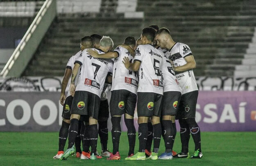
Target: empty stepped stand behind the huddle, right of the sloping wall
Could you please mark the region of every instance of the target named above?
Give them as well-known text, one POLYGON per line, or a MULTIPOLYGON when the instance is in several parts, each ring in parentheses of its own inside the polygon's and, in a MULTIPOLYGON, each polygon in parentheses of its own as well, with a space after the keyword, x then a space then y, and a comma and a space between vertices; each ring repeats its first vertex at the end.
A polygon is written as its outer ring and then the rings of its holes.
POLYGON ((174 41, 190 46, 197 76, 255 76, 248 72, 256 63, 254 1, 58 0, 57 12, 24 76, 63 75, 84 35, 109 35, 117 46, 150 24, 169 28, 174 41))

